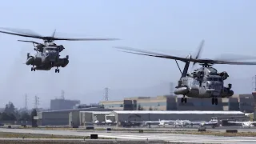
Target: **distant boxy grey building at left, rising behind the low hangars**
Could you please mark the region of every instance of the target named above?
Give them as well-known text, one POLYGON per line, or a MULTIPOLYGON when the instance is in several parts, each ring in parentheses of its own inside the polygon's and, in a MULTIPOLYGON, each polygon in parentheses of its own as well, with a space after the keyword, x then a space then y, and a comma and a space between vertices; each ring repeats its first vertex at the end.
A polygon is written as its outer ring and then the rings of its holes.
POLYGON ((50 110, 68 110, 73 109, 74 106, 80 104, 79 100, 69 99, 51 99, 50 110))

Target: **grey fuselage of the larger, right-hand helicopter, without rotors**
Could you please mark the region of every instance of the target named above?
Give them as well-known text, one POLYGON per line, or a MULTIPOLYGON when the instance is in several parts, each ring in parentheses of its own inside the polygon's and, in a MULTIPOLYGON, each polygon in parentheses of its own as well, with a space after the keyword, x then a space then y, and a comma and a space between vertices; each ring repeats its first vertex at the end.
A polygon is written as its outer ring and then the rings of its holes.
POLYGON ((223 74, 218 74, 212 67, 202 67, 187 74, 178 81, 174 94, 186 95, 190 98, 229 98, 234 92, 231 85, 224 86, 223 74))

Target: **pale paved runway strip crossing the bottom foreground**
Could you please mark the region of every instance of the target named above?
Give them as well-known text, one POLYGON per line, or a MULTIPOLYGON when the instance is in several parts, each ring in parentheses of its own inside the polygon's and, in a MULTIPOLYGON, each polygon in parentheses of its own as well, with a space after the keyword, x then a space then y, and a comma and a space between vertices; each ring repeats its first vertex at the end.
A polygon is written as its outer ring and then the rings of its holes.
POLYGON ((74 136, 90 136, 90 134, 98 134, 101 138, 118 138, 126 140, 164 140, 166 142, 194 142, 194 143, 256 143, 254 137, 219 137, 211 135, 192 135, 192 134, 139 134, 139 133, 122 133, 104 132, 104 131, 75 131, 75 130, 31 130, 31 129, 0 129, 1 132, 12 133, 30 133, 30 134, 55 134, 55 135, 74 135, 74 136))

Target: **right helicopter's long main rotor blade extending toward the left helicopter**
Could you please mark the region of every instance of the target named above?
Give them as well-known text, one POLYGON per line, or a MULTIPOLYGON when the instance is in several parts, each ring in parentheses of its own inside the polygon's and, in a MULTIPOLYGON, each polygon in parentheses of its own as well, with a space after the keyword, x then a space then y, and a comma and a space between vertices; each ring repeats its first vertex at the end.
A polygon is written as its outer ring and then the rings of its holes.
POLYGON ((167 55, 167 54, 159 54, 156 52, 151 52, 148 50, 138 50, 138 49, 134 49, 131 47, 122 47, 122 46, 114 46, 114 48, 120 49, 120 50, 130 50, 130 51, 134 51, 134 52, 138 52, 138 53, 134 53, 134 54, 141 54, 141 55, 147 55, 147 56, 151 56, 151 57, 158 57, 158 58, 167 58, 168 59, 176 59, 182 62, 186 62, 188 59, 187 58, 181 58, 181 57, 177 57, 177 56, 172 56, 172 55, 167 55))

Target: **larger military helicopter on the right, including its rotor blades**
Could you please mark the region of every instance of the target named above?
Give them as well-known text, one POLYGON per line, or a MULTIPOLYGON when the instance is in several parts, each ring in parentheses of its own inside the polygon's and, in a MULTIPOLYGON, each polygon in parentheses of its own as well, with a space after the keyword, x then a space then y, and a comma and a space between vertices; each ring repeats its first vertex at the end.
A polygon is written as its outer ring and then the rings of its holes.
MULTIPOLYGON (((186 58, 172 56, 169 54, 159 54, 156 52, 151 52, 147 50, 138 50, 130 47, 114 47, 120 49, 122 52, 130 54, 140 54, 156 58, 167 58, 174 59, 179 71, 182 74, 182 77, 178 80, 178 86, 175 87, 174 94, 183 95, 181 102, 187 102, 187 97, 190 98, 212 98, 212 105, 218 105, 218 98, 230 98, 234 91, 231 90, 232 84, 228 86, 224 85, 224 80, 229 77, 226 71, 218 72, 213 65, 214 64, 227 64, 227 65, 256 65, 256 62, 234 62, 234 59, 226 60, 214 60, 207 58, 198 58, 204 40, 202 40, 201 45, 198 49, 198 54, 195 58, 192 58, 189 54, 186 58), (183 71, 178 65, 177 61, 185 62, 183 71), (202 67, 199 69, 193 70, 188 73, 190 62, 194 62, 193 66, 196 63, 199 63, 202 67)), ((245 57, 240 59, 254 59, 255 57, 245 57)))

